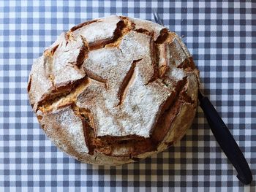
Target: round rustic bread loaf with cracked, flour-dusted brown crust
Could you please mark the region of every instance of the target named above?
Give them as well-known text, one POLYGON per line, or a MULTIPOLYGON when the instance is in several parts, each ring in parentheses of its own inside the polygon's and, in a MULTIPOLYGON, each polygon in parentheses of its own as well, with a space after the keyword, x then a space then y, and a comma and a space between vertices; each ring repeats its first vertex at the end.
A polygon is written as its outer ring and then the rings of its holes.
POLYGON ((34 61, 29 100, 64 152, 89 164, 126 164, 184 136, 198 74, 174 32, 110 16, 72 27, 34 61))

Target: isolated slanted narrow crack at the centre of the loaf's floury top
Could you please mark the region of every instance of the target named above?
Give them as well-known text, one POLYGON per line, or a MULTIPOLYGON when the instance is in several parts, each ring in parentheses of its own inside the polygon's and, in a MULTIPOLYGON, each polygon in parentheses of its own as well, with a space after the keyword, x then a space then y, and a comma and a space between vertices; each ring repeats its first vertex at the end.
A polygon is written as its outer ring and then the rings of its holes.
POLYGON ((140 58, 138 60, 132 61, 131 68, 127 72, 126 76, 124 77, 123 82, 121 82, 121 87, 118 91, 118 98, 119 98, 119 103, 117 104, 116 107, 119 105, 123 104, 125 96, 127 94, 128 88, 130 85, 132 85, 132 82, 135 78, 135 66, 138 64, 139 61, 141 61, 143 58, 140 58))

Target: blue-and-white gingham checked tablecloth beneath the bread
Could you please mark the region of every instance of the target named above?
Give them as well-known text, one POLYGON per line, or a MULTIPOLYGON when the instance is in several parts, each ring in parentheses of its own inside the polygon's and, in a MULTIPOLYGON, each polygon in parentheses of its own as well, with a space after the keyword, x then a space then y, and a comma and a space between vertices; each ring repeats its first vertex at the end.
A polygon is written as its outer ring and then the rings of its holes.
POLYGON ((244 187, 203 112, 170 150, 124 166, 80 164, 45 137, 26 93, 34 58, 84 20, 128 15, 164 23, 184 39, 201 88, 256 175, 256 3, 0 1, 0 191, 255 191, 244 187))

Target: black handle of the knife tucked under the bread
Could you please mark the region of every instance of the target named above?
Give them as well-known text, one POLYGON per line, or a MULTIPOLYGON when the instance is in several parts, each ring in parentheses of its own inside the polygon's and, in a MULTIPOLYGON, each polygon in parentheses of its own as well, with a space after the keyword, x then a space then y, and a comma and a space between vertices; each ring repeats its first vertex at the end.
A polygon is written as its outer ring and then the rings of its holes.
POLYGON ((244 183, 244 185, 252 183, 252 172, 249 169, 249 165, 235 139, 230 134, 227 126, 223 122, 222 118, 219 117, 217 110, 215 110, 211 101, 209 101, 206 96, 199 93, 198 98, 200 101, 200 107, 206 115, 206 119, 214 137, 238 172, 236 177, 238 177, 238 180, 240 180, 241 183, 244 183))

